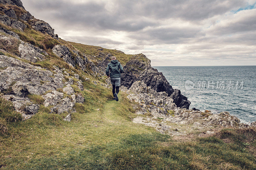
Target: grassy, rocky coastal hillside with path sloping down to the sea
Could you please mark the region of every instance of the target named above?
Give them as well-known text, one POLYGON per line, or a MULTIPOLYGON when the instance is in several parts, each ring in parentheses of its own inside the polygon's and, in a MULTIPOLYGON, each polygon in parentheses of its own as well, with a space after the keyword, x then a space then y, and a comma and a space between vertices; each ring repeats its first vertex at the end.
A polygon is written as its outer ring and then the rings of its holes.
POLYGON ((145 55, 65 41, 0 3, 0 169, 256 169, 256 122, 189 109, 145 55))

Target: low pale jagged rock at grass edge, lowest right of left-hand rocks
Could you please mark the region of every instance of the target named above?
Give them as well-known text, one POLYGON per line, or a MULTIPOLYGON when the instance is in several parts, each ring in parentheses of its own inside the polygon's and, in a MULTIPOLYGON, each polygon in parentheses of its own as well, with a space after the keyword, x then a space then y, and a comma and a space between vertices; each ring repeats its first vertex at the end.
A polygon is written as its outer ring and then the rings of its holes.
POLYGON ((63 112, 74 111, 74 106, 75 102, 71 101, 69 98, 64 98, 60 101, 60 104, 54 105, 50 110, 52 113, 61 114, 63 112))

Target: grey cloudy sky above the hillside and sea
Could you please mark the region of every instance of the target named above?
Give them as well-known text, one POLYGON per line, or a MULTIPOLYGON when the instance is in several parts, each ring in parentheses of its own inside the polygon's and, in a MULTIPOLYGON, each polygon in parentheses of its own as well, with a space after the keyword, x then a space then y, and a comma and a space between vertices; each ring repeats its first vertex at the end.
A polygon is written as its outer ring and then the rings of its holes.
POLYGON ((152 66, 256 65, 256 0, 21 0, 62 39, 152 66))

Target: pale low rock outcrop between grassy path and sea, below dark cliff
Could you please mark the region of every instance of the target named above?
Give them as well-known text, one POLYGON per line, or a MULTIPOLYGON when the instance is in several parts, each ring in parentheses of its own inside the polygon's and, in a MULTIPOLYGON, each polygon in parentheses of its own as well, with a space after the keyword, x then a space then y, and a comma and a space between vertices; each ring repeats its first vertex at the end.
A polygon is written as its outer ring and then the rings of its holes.
POLYGON ((139 103, 135 106, 137 117, 135 123, 142 123, 155 127, 161 133, 170 135, 184 135, 192 130, 214 133, 214 126, 248 127, 240 120, 229 115, 228 112, 212 114, 212 112, 180 109, 166 92, 156 92, 141 81, 132 84, 128 91, 128 98, 139 103), (183 129, 182 126, 186 128, 183 129))

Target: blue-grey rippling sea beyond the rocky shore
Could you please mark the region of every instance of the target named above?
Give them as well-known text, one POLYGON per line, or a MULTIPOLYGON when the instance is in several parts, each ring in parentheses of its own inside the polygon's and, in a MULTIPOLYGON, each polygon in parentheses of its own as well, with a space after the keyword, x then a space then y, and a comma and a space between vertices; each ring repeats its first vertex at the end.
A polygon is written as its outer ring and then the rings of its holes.
POLYGON ((256 121, 256 66, 158 66, 189 108, 227 111, 243 123, 256 121))

